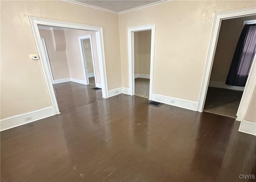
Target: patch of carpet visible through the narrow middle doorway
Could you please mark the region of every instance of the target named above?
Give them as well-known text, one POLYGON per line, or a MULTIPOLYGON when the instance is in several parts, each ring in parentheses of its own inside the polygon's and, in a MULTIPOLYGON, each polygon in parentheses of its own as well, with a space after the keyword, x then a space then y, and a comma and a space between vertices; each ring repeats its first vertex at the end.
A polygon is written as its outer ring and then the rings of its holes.
POLYGON ((149 79, 135 78, 135 95, 149 98, 149 79))

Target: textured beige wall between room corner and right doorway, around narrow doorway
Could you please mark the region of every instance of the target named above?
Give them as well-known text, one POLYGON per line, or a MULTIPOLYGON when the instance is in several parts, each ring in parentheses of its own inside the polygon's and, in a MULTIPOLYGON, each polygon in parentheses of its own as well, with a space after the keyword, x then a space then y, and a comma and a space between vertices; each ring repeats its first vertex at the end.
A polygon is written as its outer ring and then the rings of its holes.
POLYGON ((255 1, 170 1, 120 14, 122 86, 129 87, 128 27, 156 23, 153 94, 198 102, 214 13, 255 5, 255 1))

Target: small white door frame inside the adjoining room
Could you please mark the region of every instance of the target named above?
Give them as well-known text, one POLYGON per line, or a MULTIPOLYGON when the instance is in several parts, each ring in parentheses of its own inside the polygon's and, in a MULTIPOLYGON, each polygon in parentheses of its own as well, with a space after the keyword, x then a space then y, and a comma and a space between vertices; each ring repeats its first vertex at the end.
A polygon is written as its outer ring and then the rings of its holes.
POLYGON ((81 59, 82 59, 82 65, 83 65, 83 70, 84 70, 84 81, 86 83, 86 85, 88 85, 89 82, 89 77, 88 77, 88 71, 87 71, 87 65, 86 65, 86 57, 84 54, 84 45, 82 43, 82 41, 84 39, 90 39, 90 46, 91 46, 91 54, 92 54, 92 67, 93 67, 93 72, 94 72, 94 80, 95 80, 95 85, 97 85, 96 83, 96 72, 95 72, 95 64, 94 64, 94 55, 93 55, 93 50, 92 50, 92 35, 82 35, 78 37, 78 41, 79 41, 79 47, 80 47, 80 53, 81 53, 81 59))

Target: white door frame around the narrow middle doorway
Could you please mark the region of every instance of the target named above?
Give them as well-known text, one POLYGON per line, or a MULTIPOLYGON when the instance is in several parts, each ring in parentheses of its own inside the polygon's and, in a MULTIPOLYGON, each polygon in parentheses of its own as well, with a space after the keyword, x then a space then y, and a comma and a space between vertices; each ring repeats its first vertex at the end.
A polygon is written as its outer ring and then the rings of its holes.
POLYGON ((129 95, 134 95, 134 32, 151 30, 151 50, 150 50, 150 80, 149 80, 149 100, 152 100, 153 94, 153 73, 154 73, 154 50, 155 50, 155 32, 156 23, 128 27, 128 63, 129 63, 129 95))

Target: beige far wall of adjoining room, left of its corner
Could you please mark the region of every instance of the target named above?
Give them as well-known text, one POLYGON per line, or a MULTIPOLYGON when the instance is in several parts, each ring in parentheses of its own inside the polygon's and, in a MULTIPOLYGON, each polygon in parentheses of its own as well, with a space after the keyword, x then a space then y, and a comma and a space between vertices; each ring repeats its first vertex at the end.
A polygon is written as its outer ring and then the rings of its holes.
POLYGON ((66 51, 63 47, 66 47, 66 41, 63 30, 54 30, 55 39, 52 36, 52 30, 39 29, 40 36, 44 38, 46 49, 49 57, 49 62, 52 69, 52 76, 54 80, 70 78, 68 61, 66 57, 66 51), (56 39, 58 37, 58 39, 56 39), (64 41, 63 41, 64 40, 64 41), (60 43, 59 43, 60 41, 60 43), (59 45, 59 51, 55 51, 54 42, 59 45), (60 45, 62 49, 60 49, 60 45))

